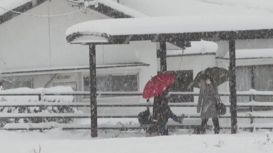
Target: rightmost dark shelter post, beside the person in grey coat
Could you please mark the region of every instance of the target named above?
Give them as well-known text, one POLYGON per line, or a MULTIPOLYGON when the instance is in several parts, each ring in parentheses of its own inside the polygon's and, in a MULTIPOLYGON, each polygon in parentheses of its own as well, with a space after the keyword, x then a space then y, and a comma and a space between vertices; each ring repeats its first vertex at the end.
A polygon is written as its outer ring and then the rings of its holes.
POLYGON ((231 134, 237 132, 237 99, 236 99, 236 58, 235 39, 229 40, 229 89, 230 89, 230 109, 231 109, 231 134))

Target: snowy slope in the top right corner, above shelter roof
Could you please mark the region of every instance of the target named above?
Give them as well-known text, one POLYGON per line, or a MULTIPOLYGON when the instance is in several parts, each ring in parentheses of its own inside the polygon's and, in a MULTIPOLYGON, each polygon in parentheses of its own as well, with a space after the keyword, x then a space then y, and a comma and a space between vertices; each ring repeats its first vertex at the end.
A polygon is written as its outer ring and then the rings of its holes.
POLYGON ((227 6, 243 6, 245 8, 253 8, 259 10, 267 10, 273 13, 273 1, 272 0, 199 0, 207 3, 214 3, 218 5, 227 6))

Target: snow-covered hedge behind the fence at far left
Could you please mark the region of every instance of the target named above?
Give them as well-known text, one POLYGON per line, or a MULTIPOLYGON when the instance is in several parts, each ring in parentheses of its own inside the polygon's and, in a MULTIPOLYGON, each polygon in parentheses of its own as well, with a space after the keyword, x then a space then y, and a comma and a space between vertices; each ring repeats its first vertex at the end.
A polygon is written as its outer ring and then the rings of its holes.
MULTIPOLYGON (((44 93, 56 93, 56 92, 72 92, 71 87, 51 87, 51 88, 17 88, 0 91, 1 94, 39 94, 42 93, 41 101, 48 102, 73 102, 74 96, 44 96, 44 93)), ((5 102, 38 102, 38 96, 0 96, 0 103, 5 102)), ((48 113, 74 113, 77 110, 73 107, 61 106, 61 107, 42 107, 42 112, 48 113)), ((37 113, 40 112, 39 107, 0 107, 1 113, 37 113)), ((0 127, 3 127, 6 123, 40 123, 40 122, 58 122, 69 123, 73 118, 48 118, 41 120, 40 118, 32 119, 0 119, 0 127)))

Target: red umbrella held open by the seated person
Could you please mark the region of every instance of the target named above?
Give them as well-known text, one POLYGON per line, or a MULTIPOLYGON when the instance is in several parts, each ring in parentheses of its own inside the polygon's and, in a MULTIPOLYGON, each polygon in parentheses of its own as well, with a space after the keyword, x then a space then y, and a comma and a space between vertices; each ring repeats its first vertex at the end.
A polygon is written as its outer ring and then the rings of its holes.
POLYGON ((175 74, 160 73, 151 78, 145 85, 142 97, 145 99, 152 98, 161 94, 167 87, 174 82, 175 74))

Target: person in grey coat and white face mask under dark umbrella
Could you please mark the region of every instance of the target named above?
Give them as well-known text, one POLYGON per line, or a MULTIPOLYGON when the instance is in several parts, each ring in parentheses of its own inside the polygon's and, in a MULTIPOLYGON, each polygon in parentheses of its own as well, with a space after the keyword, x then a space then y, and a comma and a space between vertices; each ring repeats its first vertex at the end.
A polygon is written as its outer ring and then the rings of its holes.
POLYGON ((200 92, 197 104, 197 113, 201 111, 201 133, 205 133, 208 119, 212 118, 215 134, 219 134, 219 112, 216 110, 216 100, 220 99, 217 86, 214 85, 212 77, 206 75, 205 80, 200 82, 200 92), (201 109, 202 108, 202 109, 201 109))

